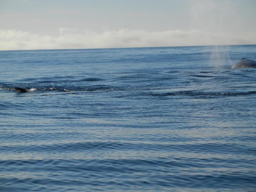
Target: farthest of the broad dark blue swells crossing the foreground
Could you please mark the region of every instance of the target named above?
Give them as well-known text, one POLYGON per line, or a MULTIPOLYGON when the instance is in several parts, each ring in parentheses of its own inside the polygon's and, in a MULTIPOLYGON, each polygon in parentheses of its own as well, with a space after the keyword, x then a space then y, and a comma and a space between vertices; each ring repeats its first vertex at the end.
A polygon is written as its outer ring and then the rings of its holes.
POLYGON ((199 144, 149 144, 130 142, 76 142, 60 143, 52 145, 5 145, 0 147, 1 152, 58 152, 65 153, 71 151, 92 151, 92 150, 153 150, 153 151, 183 151, 192 153, 207 154, 240 154, 252 155, 256 149, 235 143, 199 143, 199 144))

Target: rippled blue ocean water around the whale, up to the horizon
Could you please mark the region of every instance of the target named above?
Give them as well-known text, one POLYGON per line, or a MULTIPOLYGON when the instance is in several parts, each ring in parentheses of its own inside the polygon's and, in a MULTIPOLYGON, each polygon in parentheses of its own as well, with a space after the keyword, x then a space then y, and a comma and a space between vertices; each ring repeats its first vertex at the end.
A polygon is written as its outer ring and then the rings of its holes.
POLYGON ((256 45, 0 51, 0 191, 255 191, 241 58, 256 45))

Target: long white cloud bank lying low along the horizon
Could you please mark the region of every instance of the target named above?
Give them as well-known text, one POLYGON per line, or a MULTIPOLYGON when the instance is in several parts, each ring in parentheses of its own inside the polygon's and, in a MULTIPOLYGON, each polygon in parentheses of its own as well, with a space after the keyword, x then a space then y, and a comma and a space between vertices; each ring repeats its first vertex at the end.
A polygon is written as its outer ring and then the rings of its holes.
POLYGON ((136 29, 94 32, 60 28, 58 36, 39 35, 20 30, 0 29, 0 50, 80 49, 112 47, 155 47, 190 45, 256 44, 254 33, 243 36, 202 30, 147 32, 136 29))

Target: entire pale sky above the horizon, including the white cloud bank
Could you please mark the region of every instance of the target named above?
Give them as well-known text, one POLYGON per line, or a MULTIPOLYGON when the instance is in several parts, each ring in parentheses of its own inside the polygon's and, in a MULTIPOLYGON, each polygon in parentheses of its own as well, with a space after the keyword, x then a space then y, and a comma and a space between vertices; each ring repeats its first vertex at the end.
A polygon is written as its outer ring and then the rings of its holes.
POLYGON ((0 0, 0 50, 256 44, 256 0, 0 0))

